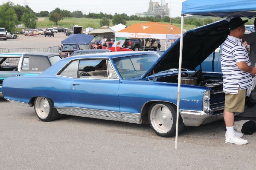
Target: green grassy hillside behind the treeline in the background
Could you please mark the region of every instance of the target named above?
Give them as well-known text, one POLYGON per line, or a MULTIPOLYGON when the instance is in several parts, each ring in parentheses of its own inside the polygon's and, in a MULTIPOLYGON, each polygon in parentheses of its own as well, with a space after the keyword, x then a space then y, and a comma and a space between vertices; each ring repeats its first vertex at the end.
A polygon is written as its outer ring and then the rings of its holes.
MULTIPOLYGON (((70 26, 73 25, 79 25, 83 26, 83 28, 91 27, 94 29, 98 29, 100 27, 99 25, 100 19, 92 19, 92 18, 64 18, 63 20, 58 22, 58 26, 65 27, 65 28, 70 28, 70 26)), ((112 22, 110 21, 110 26, 113 26, 112 22)), ((148 23, 147 21, 137 21, 137 20, 131 20, 131 21, 126 21, 127 26, 131 26, 134 23, 148 23)), ((169 23, 167 23, 169 24, 169 23)), ((177 27, 180 28, 180 24, 173 24, 177 27)), ((48 17, 45 18, 38 18, 37 21, 37 27, 38 28, 49 28, 55 26, 54 23, 49 21, 48 17)), ((184 25, 183 29, 189 30, 196 28, 194 25, 184 25)))

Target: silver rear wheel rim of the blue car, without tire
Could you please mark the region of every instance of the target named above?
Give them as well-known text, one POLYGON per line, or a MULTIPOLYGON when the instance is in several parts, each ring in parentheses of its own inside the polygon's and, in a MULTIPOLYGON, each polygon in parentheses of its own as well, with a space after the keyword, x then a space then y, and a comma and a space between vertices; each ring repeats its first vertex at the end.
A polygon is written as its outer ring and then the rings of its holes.
POLYGON ((35 112, 39 118, 45 119, 48 117, 50 112, 50 105, 47 98, 38 97, 35 100, 35 112))

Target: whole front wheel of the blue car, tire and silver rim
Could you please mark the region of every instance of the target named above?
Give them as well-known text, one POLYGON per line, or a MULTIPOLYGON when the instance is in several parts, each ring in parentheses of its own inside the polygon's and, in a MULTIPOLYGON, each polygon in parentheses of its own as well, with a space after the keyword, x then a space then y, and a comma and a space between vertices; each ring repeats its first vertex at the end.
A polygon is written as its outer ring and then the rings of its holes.
MULTIPOLYGON (((148 122, 154 132, 162 137, 175 135, 176 109, 169 103, 157 102, 151 105, 148 111, 148 122)), ((179 117, 179 132, 184 128, 181 116, 179 117)))

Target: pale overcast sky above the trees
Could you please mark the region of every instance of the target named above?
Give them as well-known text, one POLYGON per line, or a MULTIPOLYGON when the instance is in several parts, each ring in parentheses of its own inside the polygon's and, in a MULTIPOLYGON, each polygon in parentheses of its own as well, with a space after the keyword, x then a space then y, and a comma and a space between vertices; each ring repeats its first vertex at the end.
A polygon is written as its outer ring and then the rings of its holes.
MULTIPOLYGON (((68 10, 70 12, 79 10, 83 14, 99 13, 104 14, 122 14, 128 16, 135 13, 143 13, 148 11, 149 0, 0 0, 1 4, 7 1, 13 2, 15 5, 24 6, 26 3, 34 12, 48 11, 51 12, 55 8, 61 10, 68 10)), ((153 2, 160 2, 161 0, 152 0, 153 2)), ((172 17, 180 17, 181 2, 184 0, 165 0, 170 8, 172 2, 172 17)))

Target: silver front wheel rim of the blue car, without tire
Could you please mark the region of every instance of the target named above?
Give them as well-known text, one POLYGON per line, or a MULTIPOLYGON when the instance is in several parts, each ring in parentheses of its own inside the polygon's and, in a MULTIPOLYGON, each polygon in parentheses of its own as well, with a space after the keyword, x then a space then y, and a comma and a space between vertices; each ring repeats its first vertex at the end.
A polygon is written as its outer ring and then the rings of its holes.
POLYGON ((168 133, 173 127, 173 113, 164 104, 155 104, 150 111, 150 123, 158 133, 168 133))

